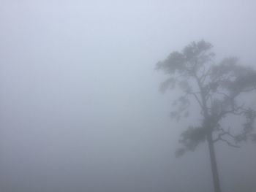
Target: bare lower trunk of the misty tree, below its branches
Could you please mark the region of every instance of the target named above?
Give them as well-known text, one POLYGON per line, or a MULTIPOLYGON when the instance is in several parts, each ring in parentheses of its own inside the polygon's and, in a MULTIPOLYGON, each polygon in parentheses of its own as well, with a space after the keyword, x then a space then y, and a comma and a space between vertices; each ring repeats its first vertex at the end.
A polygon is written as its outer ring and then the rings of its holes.
POLYGON ((210 160, 211 160, 211 173, 214 180, 214 192, 221 192, 220 184, 219 184, 219 173, 217 167, 217 160, 214 151, 214 142, 212 139, 212 133, 207 134, 207 142, 208 142, 208 149, 210 153, 210 160))

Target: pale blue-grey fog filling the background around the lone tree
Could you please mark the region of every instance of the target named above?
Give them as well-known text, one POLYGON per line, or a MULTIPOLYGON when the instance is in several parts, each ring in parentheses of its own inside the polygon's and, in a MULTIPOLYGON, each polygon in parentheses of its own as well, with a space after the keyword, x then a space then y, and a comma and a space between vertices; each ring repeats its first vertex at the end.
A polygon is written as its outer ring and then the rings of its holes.
MULTIPOLYGON (((0 0, 0 191, 213 191, 206 144, 174 155, 187 122, 154 67, 200 39, 256 67, 255 8, 0 0)), ((255 145, 216 151, 222 191, 255 190, 255 145)))

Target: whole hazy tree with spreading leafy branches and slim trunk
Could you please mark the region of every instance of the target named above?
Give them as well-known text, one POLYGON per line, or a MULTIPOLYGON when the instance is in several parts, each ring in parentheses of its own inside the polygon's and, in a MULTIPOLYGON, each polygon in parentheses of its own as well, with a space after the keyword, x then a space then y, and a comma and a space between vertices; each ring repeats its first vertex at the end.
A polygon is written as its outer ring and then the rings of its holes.
POLYGON ((256 112, 246 106, 242 98, 244 94, 256 91, 256 71, 238 64, 238 59, 234 57, 216 62, 212 47, 211 43, 204 40, 192 42, 181 52, 174 51, 165 60, 159 61, 156 69, 168 75, 167 80, 160 85, 161 91, 178 87, 178 93, 181 93, 173 101, 171 118, 187 118, 194 104, 202 119, 197 126, 189 126, 181 134, 179 142, 183 147, 176 150, 176 155, 195 150, 200 142, 206 141, 214 191, 220 192, 214 144, 225 142, 230 147, 239 147, 243 141, 255 140, 253 126, 256 112), (242 119, 239 129, 230 128, 225 122, 233 115, 242 119))

